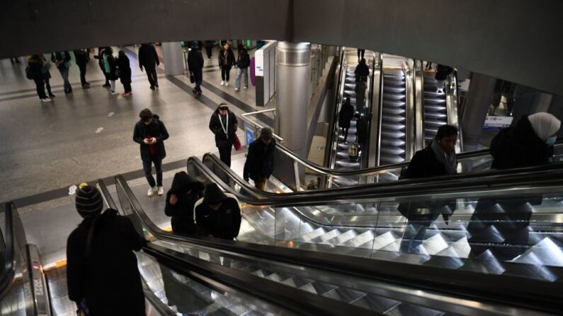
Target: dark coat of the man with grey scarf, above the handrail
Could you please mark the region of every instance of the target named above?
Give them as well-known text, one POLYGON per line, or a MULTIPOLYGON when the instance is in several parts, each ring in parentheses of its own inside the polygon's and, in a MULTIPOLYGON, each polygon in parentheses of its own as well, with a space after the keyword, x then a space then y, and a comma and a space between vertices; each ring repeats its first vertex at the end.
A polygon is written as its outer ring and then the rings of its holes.
POLYGON ((448 175, 443 163, 440 163, 430 146, 414 153, 409 167, 401 179, 416 179, 420 177, 439 177, 448 175))

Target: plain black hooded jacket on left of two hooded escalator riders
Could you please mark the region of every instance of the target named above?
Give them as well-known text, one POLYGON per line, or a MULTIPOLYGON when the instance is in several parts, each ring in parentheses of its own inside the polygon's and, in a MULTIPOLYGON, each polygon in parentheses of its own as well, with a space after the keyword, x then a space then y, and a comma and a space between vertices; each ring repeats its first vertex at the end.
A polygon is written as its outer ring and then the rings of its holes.
POLYGON ((174 175, 172 187, 166 194, 166 216, 172 216, 172 231, 182 235, 197 235, 193 208, 195 202, 202 197, 203 183, 193 180, 186 172, 181 171, 174 175), (189 193, 188 193, 189 192, 189 193), (170 197, 175 194, 178 198, 176 204, 170 204, 170 197))

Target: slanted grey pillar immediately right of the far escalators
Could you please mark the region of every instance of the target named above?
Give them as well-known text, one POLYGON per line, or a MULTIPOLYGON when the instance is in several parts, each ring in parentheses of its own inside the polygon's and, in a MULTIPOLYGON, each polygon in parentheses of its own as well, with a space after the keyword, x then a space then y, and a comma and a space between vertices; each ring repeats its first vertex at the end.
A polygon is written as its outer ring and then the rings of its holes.
POLYGON ((473 73, 462 119, 463 150, 474 151, 479 145, 496 78, 473 73))

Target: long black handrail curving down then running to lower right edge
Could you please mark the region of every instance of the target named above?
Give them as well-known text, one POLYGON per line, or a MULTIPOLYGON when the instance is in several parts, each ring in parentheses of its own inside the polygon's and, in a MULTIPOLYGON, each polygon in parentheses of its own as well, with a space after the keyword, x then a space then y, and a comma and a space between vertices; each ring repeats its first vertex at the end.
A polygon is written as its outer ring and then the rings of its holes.
POLYGON ((423 288, 442 293, 454 293, 471 299, 493 301, 506 305, 518 305, 523 308, 561 310, 563 292, 559 291, 559 282, 546 282, 520 276, 482 274, 475 271, 460 271, 441 267, 421 266, 404 262, 390 264, 385 260, 353 257, 344 254, 330 254, 310 250, 259 245, 250 242, 234 242, 215 238, 190 238, 174 235, 158 228, 144 213, 135 195, 123 176, 116 176, 116 185, 121 184, 135 214, 145 223, 147 230, 157 239, 171 242, 187 242, 200 247, 237 252, 251 257, 271 259, 288 264, 313 267, 351 274, 367 279, 377 279, 399 283, 414 288, 423 288), (515 286, 518 284, 519 286, 515 286), (538 295, 538 293, 549 293, 538 295))

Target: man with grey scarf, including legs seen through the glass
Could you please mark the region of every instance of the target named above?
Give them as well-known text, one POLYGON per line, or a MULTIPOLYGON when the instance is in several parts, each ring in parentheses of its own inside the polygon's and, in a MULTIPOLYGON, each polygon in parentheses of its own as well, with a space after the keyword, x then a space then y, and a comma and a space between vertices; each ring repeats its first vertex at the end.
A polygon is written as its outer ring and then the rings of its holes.
MULTIPOLYGON (((456 143, 457 129, 451 125, 442 125, 431 144, 414 154, 401 180, 455 175, 456 143)), ((455 210, 455 201, 409 201, 399 204, 397 210, 408 220, 400 251, 418 254, 421 253, 420 247, 426 230, 440 214, 448 223, 448 218, 455 210)))

